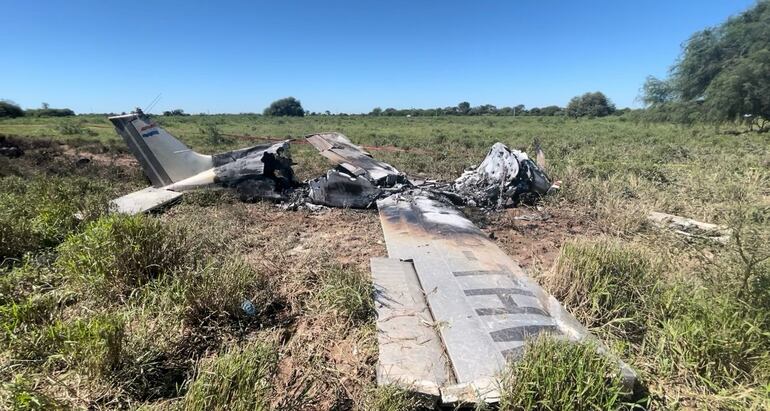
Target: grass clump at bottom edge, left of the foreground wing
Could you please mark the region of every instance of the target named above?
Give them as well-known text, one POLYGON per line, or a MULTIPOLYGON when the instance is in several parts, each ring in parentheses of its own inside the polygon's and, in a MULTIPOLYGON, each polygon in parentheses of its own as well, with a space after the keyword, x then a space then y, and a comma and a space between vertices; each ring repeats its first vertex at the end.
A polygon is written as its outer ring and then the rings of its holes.
POLYGON ((274 344, 251 341, 203 360, 184 398, 185 410, 267 410, 276 371, 274 344))

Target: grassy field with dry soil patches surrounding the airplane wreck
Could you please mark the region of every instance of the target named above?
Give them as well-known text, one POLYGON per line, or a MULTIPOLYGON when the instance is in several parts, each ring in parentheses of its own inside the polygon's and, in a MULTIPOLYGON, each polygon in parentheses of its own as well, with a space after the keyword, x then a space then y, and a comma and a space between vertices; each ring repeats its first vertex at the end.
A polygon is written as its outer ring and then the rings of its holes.
MULTIPOLYGON (((770 134, 624 117, 157 120, 202 152, 339 131, 444 180, 496 141, 531 150, 537 138, 563 182, 540 204, 549 218, 469 214, 642 386, 621 392, 591 347, 538 340, 501 376, 500 407, 770 407, 770 134), (652 227, 653 210, 734 235, 686 239, 652 227)), ((0 134, 26 151, 0 157, 0 408, 430 409, 375 384, 375 211, 292 212, 219 191, 108 216, 106 200, 147 183, 105 118, 3 120, 0 134)), ((330 166, 300 141, 292 154, 303 179, 330 166)))

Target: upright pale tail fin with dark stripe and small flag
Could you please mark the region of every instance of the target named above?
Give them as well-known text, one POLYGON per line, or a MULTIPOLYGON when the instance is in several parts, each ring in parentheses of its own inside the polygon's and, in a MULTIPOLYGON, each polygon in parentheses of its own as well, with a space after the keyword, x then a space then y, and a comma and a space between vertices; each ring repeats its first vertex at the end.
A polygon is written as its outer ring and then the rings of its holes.
POLYGON ((139 109, 109 120, 154 187, 168 186, 214 166, 211 156, 192 151, 139 109))

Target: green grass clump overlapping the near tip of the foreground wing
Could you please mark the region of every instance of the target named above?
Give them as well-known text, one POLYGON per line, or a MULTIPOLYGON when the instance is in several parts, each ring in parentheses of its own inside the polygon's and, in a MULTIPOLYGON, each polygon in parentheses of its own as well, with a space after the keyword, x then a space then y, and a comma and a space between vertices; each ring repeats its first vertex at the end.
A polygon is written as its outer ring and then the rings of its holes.
POLYGON ((623 406, 618 365, 591 344, 539 337, 501 384, 501 410, 612 410, 623 406))

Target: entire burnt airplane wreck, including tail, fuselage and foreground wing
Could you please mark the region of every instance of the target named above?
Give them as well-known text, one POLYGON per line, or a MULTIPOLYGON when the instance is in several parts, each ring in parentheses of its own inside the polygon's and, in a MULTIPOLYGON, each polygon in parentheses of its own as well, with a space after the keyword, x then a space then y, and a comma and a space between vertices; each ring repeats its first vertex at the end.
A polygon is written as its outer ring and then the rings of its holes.
MULTIPOLYGON (((397 384, 445 404, 496 402, 500 373, 540 333, 592 340, 564 307, 457 208, 500 208, 544 195, 551 182, 526 153, 496 143, 484 161, 453 183, 414 181, 339 133, 307 141, 336 164, 300 184, 289 142, 207 156, 185 146, 141 111, 110 117, 152 187, 113 201, 140 213, 184 191, 235 188, 246 200, 267 198, 379 210, 388 257, 371 259, 377 309, 380 384, 397 384)), ((627 389, 635 373, 622 361, 627 389)))

